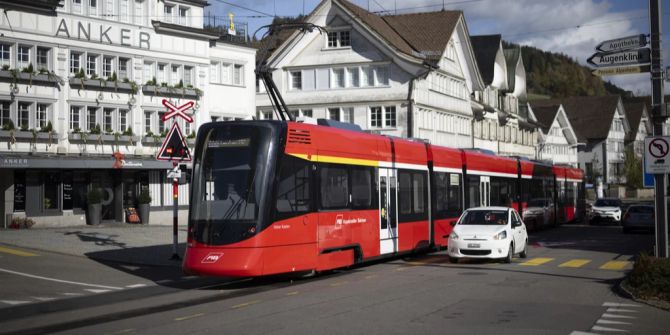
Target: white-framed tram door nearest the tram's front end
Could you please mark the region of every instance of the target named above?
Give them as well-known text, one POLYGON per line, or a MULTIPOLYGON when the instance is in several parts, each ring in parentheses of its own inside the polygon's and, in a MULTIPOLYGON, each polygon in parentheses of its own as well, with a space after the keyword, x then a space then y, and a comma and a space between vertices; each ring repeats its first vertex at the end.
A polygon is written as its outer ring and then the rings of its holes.
POLYGON ((379 169, 379 246, 380 254, 398 251, 398 192, 396 170, 379 169))

